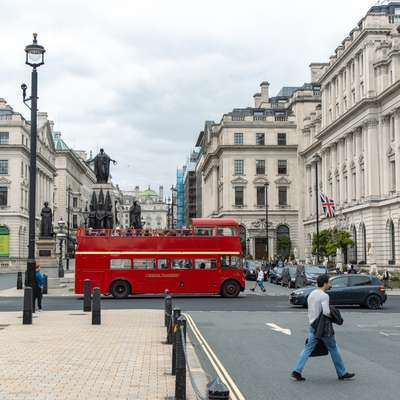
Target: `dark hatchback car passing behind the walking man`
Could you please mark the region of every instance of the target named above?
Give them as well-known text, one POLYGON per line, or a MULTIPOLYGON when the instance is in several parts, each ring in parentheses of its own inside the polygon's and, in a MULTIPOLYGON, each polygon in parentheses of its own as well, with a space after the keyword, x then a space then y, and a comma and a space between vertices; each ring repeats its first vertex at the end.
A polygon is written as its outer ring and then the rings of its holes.
MULTIPOLYGON (((360 305, 371 309, 380 308, 387 299, 382 282, 372 275, 340 275, 329 280, 332 287, 327 291, 331 305, 360 305)), ((307 299, 314 287, 295 290, 289 296, 291 304, 307 307, 307 299)))

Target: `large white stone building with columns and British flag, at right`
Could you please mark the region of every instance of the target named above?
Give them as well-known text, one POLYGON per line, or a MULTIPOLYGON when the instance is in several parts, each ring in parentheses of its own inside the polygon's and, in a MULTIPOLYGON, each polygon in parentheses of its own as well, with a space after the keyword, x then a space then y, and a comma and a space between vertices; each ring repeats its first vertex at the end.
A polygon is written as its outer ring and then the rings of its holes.
MULTIPOLYGON (((348 261, 400 265, 400 3, 372 7, 326 64, 319 64, 321 105, 299 130, 305 253, 315 232, 315 163, 319 189, 337 218, 321 228, 349 230, 348 261)), ((319 76, 318 76, 319 75, 319 76)))

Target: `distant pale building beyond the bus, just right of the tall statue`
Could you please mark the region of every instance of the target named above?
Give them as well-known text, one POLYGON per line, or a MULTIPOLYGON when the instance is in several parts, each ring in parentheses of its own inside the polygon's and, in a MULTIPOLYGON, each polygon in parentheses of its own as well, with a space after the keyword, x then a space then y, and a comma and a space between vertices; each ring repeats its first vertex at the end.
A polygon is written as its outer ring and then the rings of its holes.
POLYGON ((129 221, 129 209, 133 205, 135 200, 139 201, 142 210, 142 221, 144 222, 144 228, 151 229, 165 229, 167 228, 167 213, 168 206, 164 199, 164 188, 159 187, 158 193, 150 188, 150 186, 140 191, 139 186, 135 186, 133 191, 122 191, 123 193, 123 205, 121 208, 122 217, 121 225, 128 227, 129 221))

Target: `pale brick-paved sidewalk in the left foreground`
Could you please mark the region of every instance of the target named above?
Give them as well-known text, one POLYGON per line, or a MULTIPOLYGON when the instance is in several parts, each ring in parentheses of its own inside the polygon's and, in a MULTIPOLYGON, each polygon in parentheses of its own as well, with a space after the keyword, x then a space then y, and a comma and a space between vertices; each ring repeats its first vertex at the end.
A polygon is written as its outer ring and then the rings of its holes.
MULTIPOLYGON (((173 398, 162 311, 103 310, 102 325, 77 311, 21 317, 0 314, 1 400, 173 398)), ((187 394, 195 399, 189 379, 187 394)))

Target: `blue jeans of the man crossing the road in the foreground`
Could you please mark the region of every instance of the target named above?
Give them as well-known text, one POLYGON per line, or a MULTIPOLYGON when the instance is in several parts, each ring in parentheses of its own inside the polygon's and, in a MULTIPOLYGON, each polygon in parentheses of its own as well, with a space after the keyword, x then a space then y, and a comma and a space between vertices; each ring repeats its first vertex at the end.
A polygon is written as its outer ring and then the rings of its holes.
MULTIPOLYGON (((342 356, 340 355, 339 348, 337 347, 335 336, 324 336, 321 338, 324 342, 326 348, 331 355, 333 364, 335 365, 336 373, 338 376, 343 376, 346 373, 346 367, 344 366, 342 356)), ((318 343, 318 339, 314 335, 314 329, 310 327, 310 333, 308 335, 308 342, 304 345, 304 349, 301 352, 296 366, 294 367, 294 371, 301 372, 303 371, 304 365, 306 364, 308 357, 313 352, 315 346, 318 343)))

